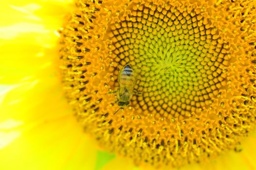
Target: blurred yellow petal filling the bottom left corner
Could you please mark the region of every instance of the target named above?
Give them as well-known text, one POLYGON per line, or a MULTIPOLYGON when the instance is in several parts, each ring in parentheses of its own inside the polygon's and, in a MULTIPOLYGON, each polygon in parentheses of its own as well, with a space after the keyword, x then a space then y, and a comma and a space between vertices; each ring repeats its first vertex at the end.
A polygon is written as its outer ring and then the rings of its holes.
POLYGON ((96 149, 72 118, 44 121, 21 131, 19 138, 0 150, 0 169, 93 169, 96 149))

